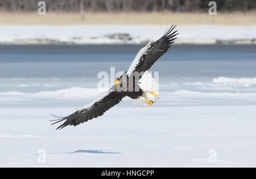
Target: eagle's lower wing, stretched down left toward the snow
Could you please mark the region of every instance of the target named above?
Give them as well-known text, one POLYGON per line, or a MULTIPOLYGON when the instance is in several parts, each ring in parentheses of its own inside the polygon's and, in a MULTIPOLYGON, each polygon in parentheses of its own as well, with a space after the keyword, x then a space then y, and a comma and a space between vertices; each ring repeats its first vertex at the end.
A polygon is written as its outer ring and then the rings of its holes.
POLYGON ((97 118, 98 116, 103 115, 107 110, 109 110, 114 105, 117 105, 124 96, 122 93, 117 91, 109 90, 105 93, 102 93, 98 98, 88 105, 82 107, 82 109, 77 110, 75 113, 66 116, 65 118, 51 120, 55 121, 56 124, 65 120, 56 130, 61 129, 66 126, 77 126, 80 123, 87 122, 90 119, 97 118))

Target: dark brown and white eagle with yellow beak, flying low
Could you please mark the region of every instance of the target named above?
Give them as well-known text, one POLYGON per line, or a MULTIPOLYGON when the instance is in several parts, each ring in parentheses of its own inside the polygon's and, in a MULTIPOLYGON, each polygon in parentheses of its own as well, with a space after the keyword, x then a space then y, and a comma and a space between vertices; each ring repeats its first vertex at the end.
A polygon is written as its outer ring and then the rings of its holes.
POLYGON ((117 105, 124 97, 132 99, 141 99, 148 105, 156 102, 158 94, 155 91, 150 91, 145 88, 141 82, 148 69, 159 59, 164 53, 168 51, 178 35, 174 31, 176 26, 172 25, 168 31, 164 33, 162 38, 148 43, 143 47, 135 56, 127 72, 122 76, 115 78, 114 85, 106 92, 102 93, 94 101, 88 105, 76 110, 75 113, 68 115, 64 118, 51 120, 54 123, 63 122, 59 127, 62 129, 67 126, 77 126, 81 123, 87 122, 93 118, 103 115, 111 107, 117 105))

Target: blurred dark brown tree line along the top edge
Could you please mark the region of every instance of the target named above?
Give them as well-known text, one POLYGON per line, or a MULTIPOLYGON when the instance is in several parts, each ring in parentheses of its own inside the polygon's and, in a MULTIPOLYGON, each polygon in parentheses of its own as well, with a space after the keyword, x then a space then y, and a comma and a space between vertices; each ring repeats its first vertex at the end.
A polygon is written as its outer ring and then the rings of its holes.
MULTIPOLYGON (((0 10, 35 11, 39 0, 0 0, 0 10)), ((44 0, 47 11, 205 11, 210 0, 44 0)), ((218 11, 256 9, 256 0, 217 0, 218 11)))

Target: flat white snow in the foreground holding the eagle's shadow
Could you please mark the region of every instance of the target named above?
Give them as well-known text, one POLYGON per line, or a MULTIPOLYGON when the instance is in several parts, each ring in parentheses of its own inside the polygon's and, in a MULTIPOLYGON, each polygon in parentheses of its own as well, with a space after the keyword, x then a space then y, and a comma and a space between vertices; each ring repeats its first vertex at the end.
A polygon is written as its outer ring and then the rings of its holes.
POLYGON ((49 113, 73 109, 2 108, 0 166, 256 166, 255 107, 115 107, 61 131, 49 113))

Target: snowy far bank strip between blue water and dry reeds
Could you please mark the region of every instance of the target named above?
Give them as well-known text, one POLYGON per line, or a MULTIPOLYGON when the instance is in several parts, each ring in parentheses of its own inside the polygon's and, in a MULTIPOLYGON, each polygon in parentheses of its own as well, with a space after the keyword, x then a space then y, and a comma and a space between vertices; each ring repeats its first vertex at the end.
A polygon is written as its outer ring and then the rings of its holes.
MULTIPOLYGON (((170 27, 170 26, 169 26, 170 27)), ((167 26, 0 26, 2 44, 144 44, 167 26)), ((177 44, 256 44, 256 26, 179 25, 177 44)))

